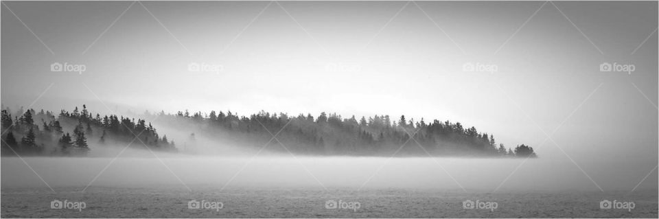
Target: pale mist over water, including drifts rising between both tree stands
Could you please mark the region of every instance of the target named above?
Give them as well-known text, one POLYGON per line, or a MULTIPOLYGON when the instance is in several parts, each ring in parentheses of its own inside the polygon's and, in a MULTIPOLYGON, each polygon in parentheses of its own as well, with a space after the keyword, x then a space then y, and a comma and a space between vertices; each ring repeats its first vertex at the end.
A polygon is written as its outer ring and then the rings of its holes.
MULTIPOLYGON (((82 191, 88 185, 90 188, 165 185, 185 190, 210 187, 217 191, 246 187, 312 187, 356 192, 360 189, 630 192, 636 185, 636 191, 656 190, 658 184, 657 172, 651 171, 658 162, 657 149, 651 147, 656 145, 654 140, 627 146, 643 150, 627 150, 621 154, 605 150, 623 145, 617 141, 604 146, 601 139, 557 138, 566 148, 566 154, 555 146, 538 145, 538 159, 310 157, 287 153, 275 139, 267 145, 257 142, 246 147, 213 135, 218 132, 204 132, 195 126, 176 127, 163 122, 154 122, 154 126, 176 141, 178 153, 150 151, 141 147, 139 141, 130 146, 128 143, 102 145, 89 141, 91 150, 87 157, 23 159, 56 191, 61 187, 78 187, 74 190, 82 191), (196 133, 194 143, 189 142, 191 133, 196 133), (570 147, 573 145, 591 149, 574 150, 570 147), (638 159, 614 159, 621 155, 638 159)), ((418 146, 410 141, 404 147, 418 146)), ((3 157, 0 162, 3 189, 47 188, 20 158, 3 157)))

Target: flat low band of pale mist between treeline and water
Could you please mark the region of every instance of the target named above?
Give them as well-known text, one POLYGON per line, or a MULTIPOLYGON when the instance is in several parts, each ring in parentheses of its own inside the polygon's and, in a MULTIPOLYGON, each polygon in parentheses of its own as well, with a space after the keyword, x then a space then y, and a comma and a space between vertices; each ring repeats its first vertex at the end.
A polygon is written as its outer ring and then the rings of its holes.
MULTIPOLYGON (((112 157, 24 157, 51 187, 80 187, 102 172, 91 187, 157 187, 180 185, 226 189, 243 187, 342 187, 348 189, 445 189, 467 192, 599 191, 570 161, 477 158, 292 157, 290 155, 189 156, 132 152, 104 170, 112 157), (149 157, 150 155, 150 157, 149 157), (166 165, 166 166, 165 166, 166 165), (517 169, 517 170, 516 170, 517 169), (446 170, 446 172, 444 171, 446 170), (512 174, 507 181, 506 178, 512 174), (178 181, 178 178, 181 181, 178 181), (235 176, 235 177, 234 177, 235 176), (231 181, 227 185, 227 182, 231 181), (505 183, 502 183, 505 181, 505 183), (500 186, 500 187, 499 187, 500 186)), ((604 191, 631 191, 650 169, 639 163, 580 163, 604 191)), ((645 166, 651 166, 646 163, 645 166)), ((46 187, 17 157, 1 159, 3 189, 46 187)), ((656 189, 650 174, 637 189, 656 189)))

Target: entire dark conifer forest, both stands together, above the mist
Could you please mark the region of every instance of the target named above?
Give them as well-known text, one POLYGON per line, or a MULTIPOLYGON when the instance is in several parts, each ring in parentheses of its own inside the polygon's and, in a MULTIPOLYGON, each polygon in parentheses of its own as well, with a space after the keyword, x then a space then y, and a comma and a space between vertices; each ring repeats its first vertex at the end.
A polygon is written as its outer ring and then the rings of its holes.
POLYGON ((466 128, 460 122, 415 121, 404 115, 343 118, 336 113, 291 117, 286 113, 259 113, 239 116, 227 111, 210 113, 159 113, 163 124, 189 130, 181 139, 183 150, 165 135, 160 137, 145 119, 89 113, 82 110, 36 112, 21 108, 12 114, 3 108, 3 156, 84 156, 94 146, 123 143, 132 148, 163 152, 194 152, 199 144, 195 135, 231 142, 235 146, 259 148, 263 143, 279 145, 268 150, 308 155, 342 156, 469 156, 469 157, 537 157, 524 144, 506 148, 496 143, 494 135, 466 128), (195 133, 196 132, 196 133, 195 133), (273 137, 275 136, 275 137, 273 137), (132 143, 132 141, 137 141, 132 143))

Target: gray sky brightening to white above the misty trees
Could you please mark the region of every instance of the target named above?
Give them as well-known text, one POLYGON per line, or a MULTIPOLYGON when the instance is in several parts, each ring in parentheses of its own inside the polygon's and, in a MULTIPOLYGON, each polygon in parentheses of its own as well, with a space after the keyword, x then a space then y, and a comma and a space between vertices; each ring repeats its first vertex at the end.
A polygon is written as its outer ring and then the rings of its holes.
POLYGON ((45 91, 33 108, 405 114, 566 162, 657 163, 656 1, 131 4, 3 1, 3 104, 45 91))

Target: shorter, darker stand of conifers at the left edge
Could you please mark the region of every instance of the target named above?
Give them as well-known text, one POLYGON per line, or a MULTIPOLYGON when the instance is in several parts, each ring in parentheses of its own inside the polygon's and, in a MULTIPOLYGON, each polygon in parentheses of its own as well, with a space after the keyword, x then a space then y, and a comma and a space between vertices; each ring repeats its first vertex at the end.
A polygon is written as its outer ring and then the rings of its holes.
MULTIPOLYGON (((174 141, 159 137, 151 124, 145 120, 117 117, 117 115, 89 113, 85 105, 82 111, 76 107, 72 112, 62 110, 58 115, 51 111, 30 108, 19 109, 12 117, 10 108, 3 108, 0 115, 3 156, 48 155, 84 156, 89 153, 89 141, 104 146, 109 143, 126 145, 139 136, 139 140, 153 150, 176 151, 174 141), (23 113, 24 112, 24 113, 23 113), (20 116, 18 116, 20 115, 20 116)), ((134 148, 145 147, 131 143, 134 148)))

